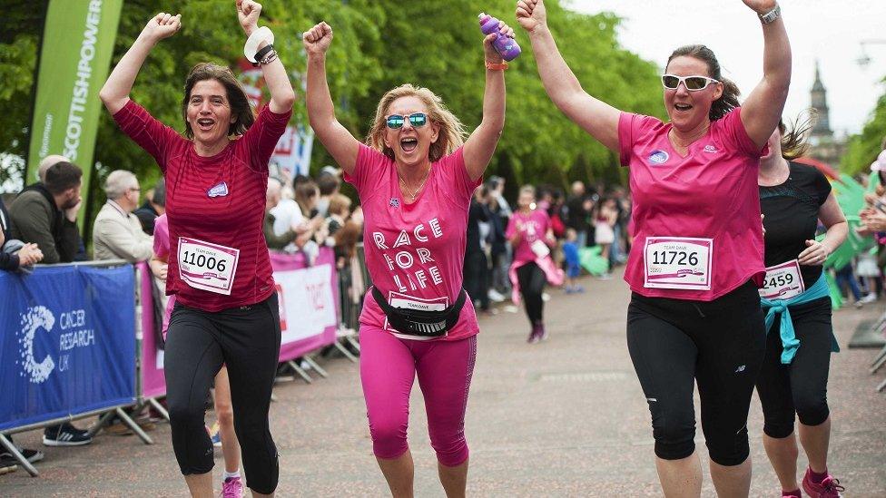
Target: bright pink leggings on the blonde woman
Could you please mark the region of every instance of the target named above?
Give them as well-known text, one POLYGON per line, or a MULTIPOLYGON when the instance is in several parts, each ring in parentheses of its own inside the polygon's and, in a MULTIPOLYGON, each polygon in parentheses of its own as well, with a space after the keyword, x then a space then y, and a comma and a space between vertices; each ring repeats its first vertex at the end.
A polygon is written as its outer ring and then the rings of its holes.
POLYGON ((397 458, 409 450, 409 393, 418 374, 428 412, 430 443, 439 463, 454 467, 468 460, 465 409, 477 357, 477 336, 456 341, 416 341, 364 325, 359 338, 360 382, 375 455, 397 458))

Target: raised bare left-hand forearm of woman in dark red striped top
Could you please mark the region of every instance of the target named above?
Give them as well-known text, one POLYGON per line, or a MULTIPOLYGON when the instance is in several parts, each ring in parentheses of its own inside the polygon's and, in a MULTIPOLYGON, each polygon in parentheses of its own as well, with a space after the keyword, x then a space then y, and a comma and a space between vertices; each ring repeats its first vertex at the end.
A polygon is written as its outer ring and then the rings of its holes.
POLYGON ((162 12, 145 24, 142 34, 135 39, 133 46, 129 47, 123 58, 113 68, 108 81, 104 82, 102 90, 98 93, 100 99, 112 114, 116 114, 129 102, 129 93, 133 91, 133 83, 138 75, 144 60, 151 53, 153 45, 175 34, 182 27, 182 15, 172 15, 162 12))

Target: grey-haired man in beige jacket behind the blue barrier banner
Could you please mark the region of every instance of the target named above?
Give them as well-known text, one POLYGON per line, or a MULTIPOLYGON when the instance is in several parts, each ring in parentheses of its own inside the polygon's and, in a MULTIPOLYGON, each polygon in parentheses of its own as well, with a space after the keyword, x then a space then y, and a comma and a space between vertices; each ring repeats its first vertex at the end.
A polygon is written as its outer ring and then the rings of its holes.
MULTIPOLYGON (((130 263, 151 259, 153 237, 143 232, 142 223, 133 214, 140 191, 132 171, 112 171, 104 181, 108 200, 93 226, 95 259, 125 259, 130 263)), ((151 223, 153 229, 153 220, 151 223)))

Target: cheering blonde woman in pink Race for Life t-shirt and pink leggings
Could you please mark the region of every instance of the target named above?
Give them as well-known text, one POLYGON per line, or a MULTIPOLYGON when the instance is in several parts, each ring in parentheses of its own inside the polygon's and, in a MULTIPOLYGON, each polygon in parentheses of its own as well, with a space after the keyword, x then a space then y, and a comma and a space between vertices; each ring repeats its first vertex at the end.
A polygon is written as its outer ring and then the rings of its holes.
MULTIPOLYGON (((513 35, 505 24, 503 34, 513 35)), ((477 317, 463 286, 468 207, 505 124, 507 64, 485 38, 483 120, 464 127, 440 98, 404 84, 379 103, 367 144, 335 117, 326 81, 332 29, 304 34, 310 126, 359 193, 373 288, 360 314, 360 380, 369 432, 394 496, 411 496, 409 393, 418 375, 428 432, 448 496, 468 480, 465 410, 477 353, 477 317)))

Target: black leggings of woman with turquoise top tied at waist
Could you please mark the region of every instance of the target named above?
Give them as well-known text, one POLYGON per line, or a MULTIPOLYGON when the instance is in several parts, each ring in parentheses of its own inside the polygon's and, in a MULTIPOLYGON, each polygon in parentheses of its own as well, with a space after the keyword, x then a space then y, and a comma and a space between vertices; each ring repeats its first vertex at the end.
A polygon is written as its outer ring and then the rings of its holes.
POLYGON ((763 432, 775 438, 793 433, 793 415, 802 425, 821 425, 828 409, 828 368, 831 363, 831 298, 792 306, 793 330, 800 348, 790 365, 782 364, 781 316, 769 329, 757 395, 763 405, 763 432))

